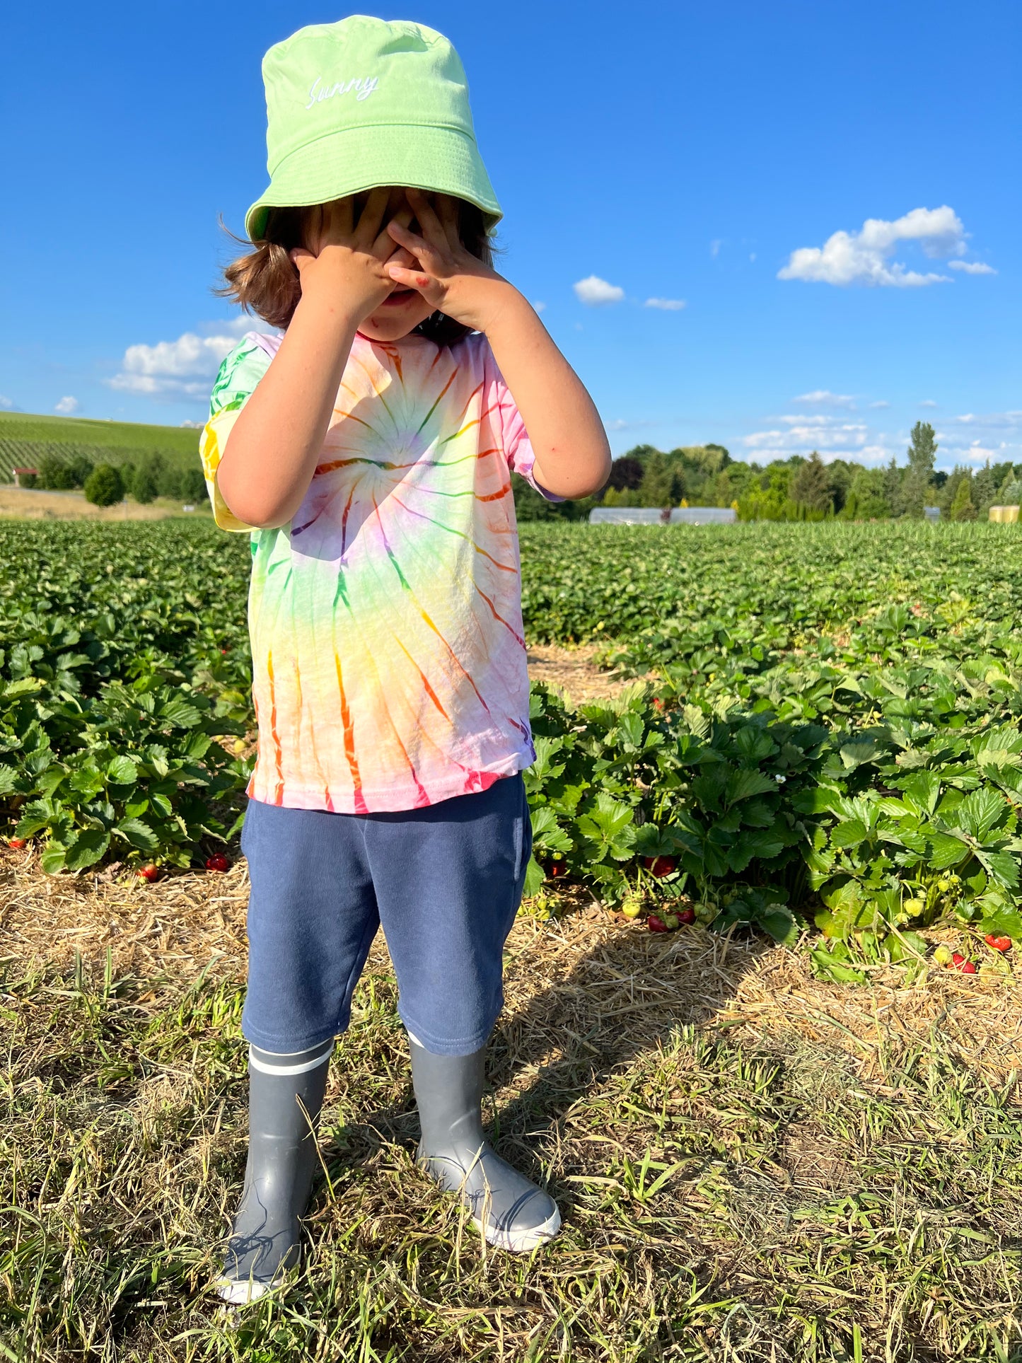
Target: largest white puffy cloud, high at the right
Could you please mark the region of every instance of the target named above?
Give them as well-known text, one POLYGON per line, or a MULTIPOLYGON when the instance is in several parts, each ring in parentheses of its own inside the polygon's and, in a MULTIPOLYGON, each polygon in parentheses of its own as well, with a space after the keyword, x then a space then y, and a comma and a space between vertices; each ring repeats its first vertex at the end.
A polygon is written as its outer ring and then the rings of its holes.
POLYGON ((788 264, 778 270, 778 279, 804 279, 818 284, 864 284, 878 288, 917 288, 950 284, 950 275, 920 274, 909 270, 893 255, 901 241, 916 241, 933 259, 959 256, 965 251, 965 228, 958 214, 940 209, 913 209, 901 218, 867 218, 858 232, 835 232, 822 247, 800 247, 788 264))

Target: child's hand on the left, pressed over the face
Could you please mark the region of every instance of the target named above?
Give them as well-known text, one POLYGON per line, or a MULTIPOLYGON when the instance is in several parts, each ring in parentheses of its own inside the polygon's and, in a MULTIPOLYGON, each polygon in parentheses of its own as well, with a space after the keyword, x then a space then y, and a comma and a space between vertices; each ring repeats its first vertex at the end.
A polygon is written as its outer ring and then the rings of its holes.
POLYGON ((402 189, 372 189, 356 222, 356 203, 349 195, 323 207, 320 229, 312 249, 296 247, 289 252, 301 279, 301 294, 319 296, 343 307, 356 322, 364 322, 394 290, 388 264, 414 264, 414 258, 394 247, 383 226, 391 209, 391 224, 405 226, 412 210, 403 204, 402 189))

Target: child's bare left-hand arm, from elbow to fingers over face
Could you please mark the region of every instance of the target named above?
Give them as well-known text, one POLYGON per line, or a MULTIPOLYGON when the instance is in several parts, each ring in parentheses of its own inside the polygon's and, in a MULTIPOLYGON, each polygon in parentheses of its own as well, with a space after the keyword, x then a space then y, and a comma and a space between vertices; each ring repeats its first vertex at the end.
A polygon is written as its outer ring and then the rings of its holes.
MULTIPOLYGON (((324 210, 318 251, 292 251, 301 300, 273 364, 241 409, 217 470, 223 500, 248 525, 286 525, 301 506, 358 323, 394 288, 395 255, 383 226, 388 191, 373 189, 353 222, 353 202, 324 210)), ((395 219, 410 221, 410 213, 395 219)))

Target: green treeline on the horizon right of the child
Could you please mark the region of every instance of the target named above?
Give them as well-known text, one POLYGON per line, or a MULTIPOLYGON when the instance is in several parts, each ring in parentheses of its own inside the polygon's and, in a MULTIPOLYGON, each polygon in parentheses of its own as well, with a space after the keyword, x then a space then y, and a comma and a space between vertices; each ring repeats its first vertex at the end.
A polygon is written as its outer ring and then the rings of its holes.
POLYGON ((585 519, 595 506, 734 507, 740 521, 923 519, 938 507, 943 519, 987 519, 992 506, 1022 504, 1022 465, 989 463, 936 472, 933 427, 917 421, 908 462, 883 468, 853 459, 823 462, 815 451, 767 465, 732 459, 721 444, 662 451, 636 446, 615 459, 606 487, 579 502, 545 502, 516 480, 522 521, 585 519))

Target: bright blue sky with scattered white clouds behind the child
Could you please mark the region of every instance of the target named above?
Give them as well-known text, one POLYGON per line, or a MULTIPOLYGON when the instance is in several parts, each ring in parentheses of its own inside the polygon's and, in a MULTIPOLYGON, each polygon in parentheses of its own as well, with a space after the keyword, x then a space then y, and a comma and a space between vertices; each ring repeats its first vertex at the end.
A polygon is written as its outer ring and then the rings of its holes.
MULTIPOLYGON (((4 20, 0 405, 202 418, 252 324, 210 288, 217 214, 240 232, 266 184, 262 55, 347 12, 4 20)), ((1017 0, 371 12, 461 52, 500 269, 545 305, 615 453, 882 462, 921 418, 943 466, 1022 461, 1017 0)))

